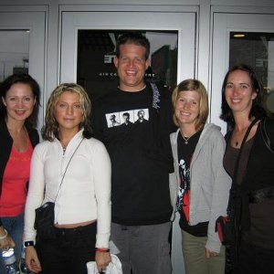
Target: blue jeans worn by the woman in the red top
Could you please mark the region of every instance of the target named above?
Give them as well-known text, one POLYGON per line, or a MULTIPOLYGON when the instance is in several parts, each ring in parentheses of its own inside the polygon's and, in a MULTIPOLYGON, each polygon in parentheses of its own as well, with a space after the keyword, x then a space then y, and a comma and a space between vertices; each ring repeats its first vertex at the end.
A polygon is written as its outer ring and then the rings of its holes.
POLYGON ((16 243, 15 255, 17 263, 19 263, 23 249, 24 213, 18 216, 1 217, 1 221, 8 235, 16 243))

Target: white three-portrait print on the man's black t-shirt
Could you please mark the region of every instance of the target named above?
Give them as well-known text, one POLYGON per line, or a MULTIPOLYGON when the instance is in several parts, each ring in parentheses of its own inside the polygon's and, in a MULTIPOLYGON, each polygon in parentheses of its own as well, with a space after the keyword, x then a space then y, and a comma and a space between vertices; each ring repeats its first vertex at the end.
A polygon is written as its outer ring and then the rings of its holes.
POLYGON ((130 126, 133 123, 146 123, 149 121, 149 110, 138 109, 107 113, 106 121, 108 128, 117 126, 130 126))

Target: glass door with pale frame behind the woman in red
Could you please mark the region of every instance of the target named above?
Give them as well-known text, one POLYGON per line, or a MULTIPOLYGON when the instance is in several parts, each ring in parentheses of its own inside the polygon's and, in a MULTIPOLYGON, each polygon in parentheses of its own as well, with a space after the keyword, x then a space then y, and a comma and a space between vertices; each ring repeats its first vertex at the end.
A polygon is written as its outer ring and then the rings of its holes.
MULTIPOLYGON (((42 10, 41 10, 42 9, 42 10)), ((45 77, 46 12, 26 12, 1 6, 0 12, 0 81, 13 73, 29 73, 41 88, 41 104, 45 77)), ((43 109, 38 115, 37 129, 43 124, 43 109)))

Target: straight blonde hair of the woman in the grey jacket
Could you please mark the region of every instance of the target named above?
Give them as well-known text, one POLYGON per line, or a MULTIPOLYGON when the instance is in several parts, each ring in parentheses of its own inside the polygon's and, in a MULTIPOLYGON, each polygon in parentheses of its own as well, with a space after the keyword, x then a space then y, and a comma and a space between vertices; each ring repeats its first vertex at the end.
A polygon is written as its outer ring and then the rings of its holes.
POLYGON ((199 106, 199 114, 197 120, 195 121, 195 130, 200 130, 204 125, 208 117, 208 99, 207 99, 207 92, 205 90, 205 86, 203 83, 197 79, 185 79, 181 83, 179 83, 173 91, 172 95, 172 102, 173 102, 173 120, 174 124, 179 127, 178 120, 175 115, 175 105, 179 98, 179 93, 188 91, 188 90, 195 90, 197 91, 201 98, 200 98, 200 106, 199 106))

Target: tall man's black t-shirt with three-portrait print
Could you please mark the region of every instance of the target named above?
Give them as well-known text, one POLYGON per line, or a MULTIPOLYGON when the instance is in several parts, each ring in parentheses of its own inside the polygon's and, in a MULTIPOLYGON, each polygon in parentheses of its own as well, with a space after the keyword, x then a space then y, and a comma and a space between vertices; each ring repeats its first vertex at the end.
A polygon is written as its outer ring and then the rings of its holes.
POLYGON ((172 159, 172 153, 169 114, 163 104, 162 99, 158 111, 152 108, 149 88, 138 92, 117 89, 93 104, 94 136, 104 142, 111 156, 115 223, 142 226, 170 220, 169 171, 164 157, 172 159))

